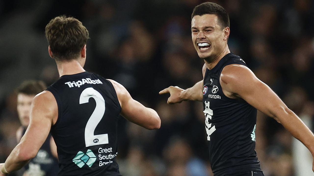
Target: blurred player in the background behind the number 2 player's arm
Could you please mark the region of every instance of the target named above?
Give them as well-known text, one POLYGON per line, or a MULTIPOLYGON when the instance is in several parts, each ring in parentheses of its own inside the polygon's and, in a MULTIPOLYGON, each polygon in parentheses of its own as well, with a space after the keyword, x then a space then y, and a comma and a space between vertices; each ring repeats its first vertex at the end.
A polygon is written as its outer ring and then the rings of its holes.
MULTIPOLYGON (((46 90, 46 88, 44 82, 35 80, 24 81, 17 88, 17 112, 22 124, 16 132, 17 142, 20 142, 26 128, 30 124, 30 106, 33 98, 36 94, 46 90)), ((56 176, 58 174, 57 147, 50 134, 35 158, 31 159, 24 168, 23 176, 56 176)))

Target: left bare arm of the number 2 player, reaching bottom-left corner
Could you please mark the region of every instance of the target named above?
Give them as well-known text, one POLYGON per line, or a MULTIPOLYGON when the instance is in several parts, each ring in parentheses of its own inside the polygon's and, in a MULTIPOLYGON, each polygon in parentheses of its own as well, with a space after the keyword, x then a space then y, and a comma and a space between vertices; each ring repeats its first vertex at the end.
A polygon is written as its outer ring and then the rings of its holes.
POLYGON ((51 92, 43 91, 35 96, 31 105, 30 125, 19 144, 1 166, 3 175, 19 170, 36 156, 48 136, 55 116, 57 116, 57 102, 51 92))

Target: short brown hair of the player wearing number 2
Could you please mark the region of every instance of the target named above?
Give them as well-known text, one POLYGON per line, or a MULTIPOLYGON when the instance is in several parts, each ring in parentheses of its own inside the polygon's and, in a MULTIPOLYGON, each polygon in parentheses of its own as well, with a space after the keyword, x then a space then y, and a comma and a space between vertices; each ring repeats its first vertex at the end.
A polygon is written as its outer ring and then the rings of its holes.
POLYGON ((64 15, 51 19, 45 34, 53 57, 60 61, 76 59, 89 39, 82 22, 64 15))

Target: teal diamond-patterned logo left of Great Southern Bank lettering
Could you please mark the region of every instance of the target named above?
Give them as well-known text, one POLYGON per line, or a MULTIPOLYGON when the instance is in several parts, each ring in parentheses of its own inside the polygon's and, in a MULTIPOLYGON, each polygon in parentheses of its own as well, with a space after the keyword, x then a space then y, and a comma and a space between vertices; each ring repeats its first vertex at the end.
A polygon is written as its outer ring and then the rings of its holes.
POLYGON ((92 167, 96 161, 96 156, 90 149, 88 149, 86 153, 78 151, 72 161, 79 168, 82 168, 85 164, 88 165, 88 167, 92 167))

